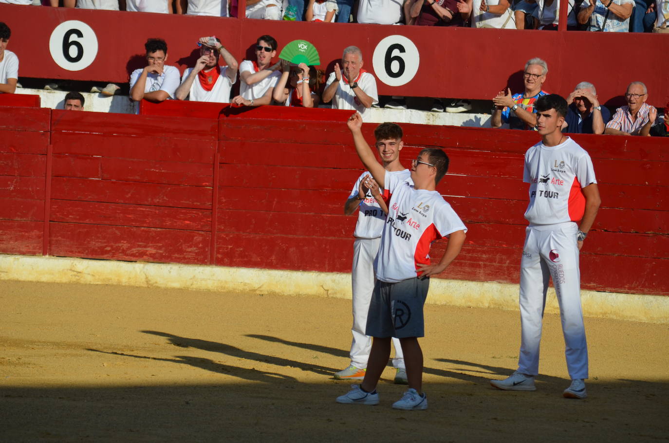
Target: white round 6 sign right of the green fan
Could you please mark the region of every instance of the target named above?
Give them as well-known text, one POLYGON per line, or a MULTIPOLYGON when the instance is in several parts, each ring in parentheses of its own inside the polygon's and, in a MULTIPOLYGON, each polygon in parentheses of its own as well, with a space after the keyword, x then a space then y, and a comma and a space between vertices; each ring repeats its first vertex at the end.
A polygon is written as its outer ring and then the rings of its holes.
POLYGON ((418 72, 418 48, 403 35, 389 35, 379 41, 372 58, 374 73, 388 86, 402 86, 418 72))

